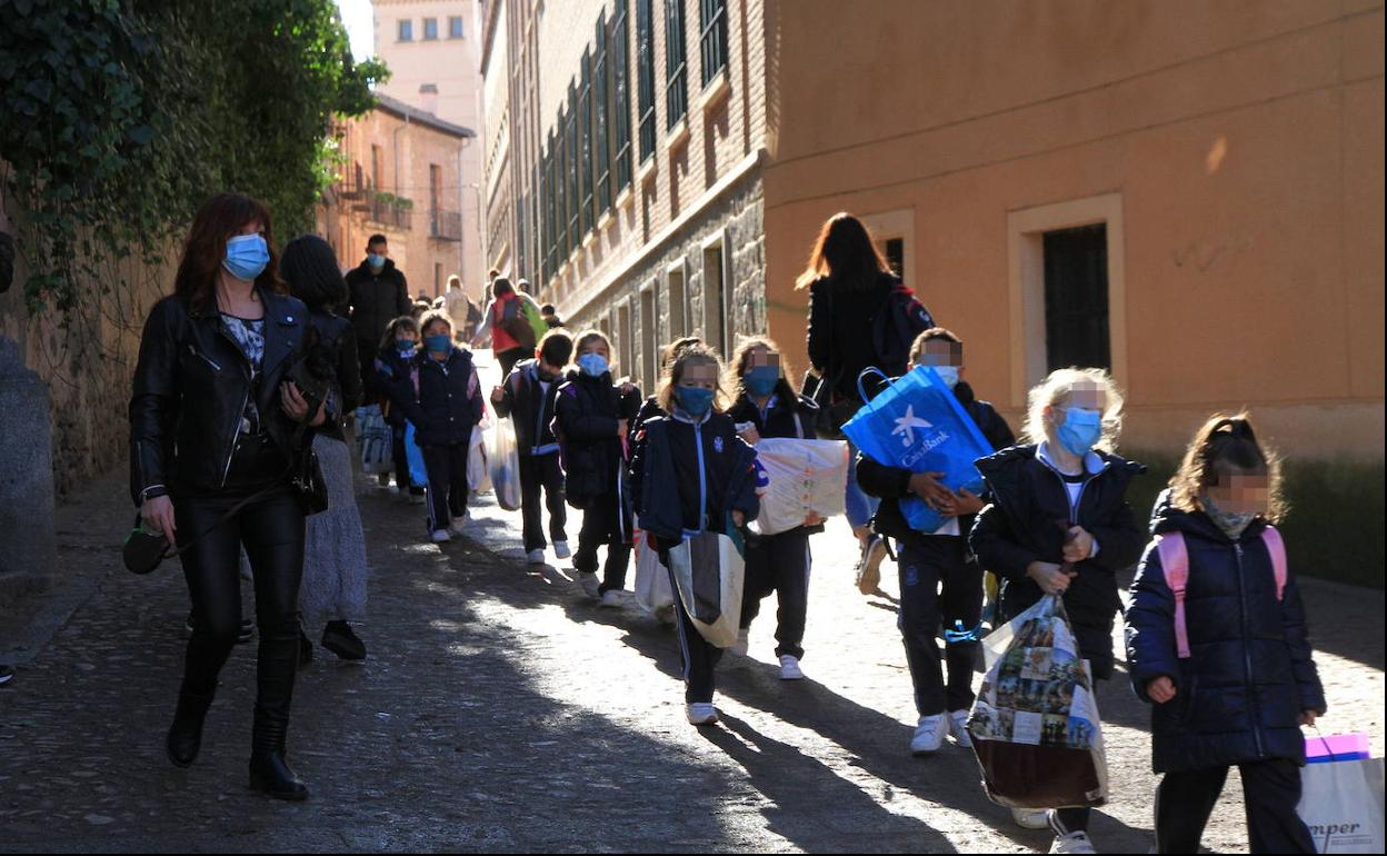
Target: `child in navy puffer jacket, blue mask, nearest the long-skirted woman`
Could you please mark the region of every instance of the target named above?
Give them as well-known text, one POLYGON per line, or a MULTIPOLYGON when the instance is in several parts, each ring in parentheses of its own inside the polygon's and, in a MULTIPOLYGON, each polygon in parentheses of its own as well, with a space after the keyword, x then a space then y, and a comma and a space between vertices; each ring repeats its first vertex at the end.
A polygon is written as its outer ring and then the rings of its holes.
POLYGON ((415 423, 429 476, 429 538, 445 544, 462 534, 467 517, 467 448, 481 422, 481 387, 472 352, 452 344, 445 314, 431 311, 419 326, 424 347, 408 375, 391 379, 390 398, 415 423))

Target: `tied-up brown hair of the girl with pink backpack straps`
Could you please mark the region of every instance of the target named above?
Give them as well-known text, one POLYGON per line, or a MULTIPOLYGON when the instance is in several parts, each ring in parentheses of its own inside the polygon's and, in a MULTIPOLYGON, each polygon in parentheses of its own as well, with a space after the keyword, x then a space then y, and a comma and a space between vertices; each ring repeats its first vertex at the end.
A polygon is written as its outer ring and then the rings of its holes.
POLYGON ((1204 490, 1232 473, 1265 474, 1265 517, 1270 523, 1286 517, 1280 455, 1257 440, 1247 413, 1215 413, 1194 434, 1180 469, 1171 476, 1171 502, 1180 511, 1204 511, 1204 490))

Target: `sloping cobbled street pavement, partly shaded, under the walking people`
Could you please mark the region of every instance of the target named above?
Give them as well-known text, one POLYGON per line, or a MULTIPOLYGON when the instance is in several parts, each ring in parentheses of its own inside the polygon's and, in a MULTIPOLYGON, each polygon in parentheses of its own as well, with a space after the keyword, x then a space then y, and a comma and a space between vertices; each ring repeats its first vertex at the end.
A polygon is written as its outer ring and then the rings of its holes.
MULTIPOLYGON (((119 565, 119 477, 60 509, 64 583, 0 616, 0 850, 1043 852, 978 784, 971 753, 906 752, 914 710, 889 598, 852 585, 842 522, 814 538, 810 680, 777 680, 774 608, 752 659, 720 670, 723 724, 682 720, 674 635, 599 610, 571 572, 527 570, 519 515, 485 502, 470 538, 422 540, 422 511, 359 486, 372 562, 362 665, 319 649, 290 755, 312 799, 245 789, 254 648, 226 667, 203 756, 164 755, 187 597, 176 563, 119 565)), ((571 529, 577 531, 577 522, 571 529)), ((1294 545, 1293 545, 1294 548, 1294 545)), ((895 591, 888 572, 888 588, 895 591)), ((1305 583, 1332 705, 1326 734, 1383 751, 1383 595, 1305 583)), ((1147 714, 1104 687, 1114 799, 1093 835, 1146 852, 1147 714)), ((1246 852, 1234 781, 1205 845, 1246 852)))

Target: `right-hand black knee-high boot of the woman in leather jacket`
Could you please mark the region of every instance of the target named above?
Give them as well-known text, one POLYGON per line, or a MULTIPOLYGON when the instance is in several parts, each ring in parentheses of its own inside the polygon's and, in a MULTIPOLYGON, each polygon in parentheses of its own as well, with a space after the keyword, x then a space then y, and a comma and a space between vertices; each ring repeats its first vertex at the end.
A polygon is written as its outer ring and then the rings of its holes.
POLYGON ((252 791, 276 799, 308 799, 308 788, 284 759, 297 669, 298 616, 262 626, 250 780, 252 791))

